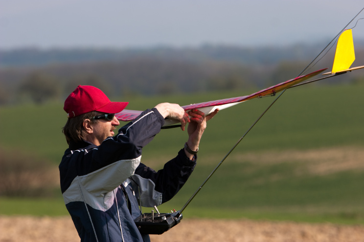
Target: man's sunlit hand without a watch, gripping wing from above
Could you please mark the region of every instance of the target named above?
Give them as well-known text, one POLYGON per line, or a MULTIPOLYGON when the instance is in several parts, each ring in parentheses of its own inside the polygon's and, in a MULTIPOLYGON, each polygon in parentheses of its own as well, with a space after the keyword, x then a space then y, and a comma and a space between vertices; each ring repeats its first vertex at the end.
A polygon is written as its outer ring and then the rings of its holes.
POLYGON ((187 122, 190 122, 188 114, 178 104, 163 102, 159 103, 157 106, 155 106, 155 108, 157 108, 158 112, 163 116, 164 119, 169 118, 180 121, 181 129, 183 131, 187 122))

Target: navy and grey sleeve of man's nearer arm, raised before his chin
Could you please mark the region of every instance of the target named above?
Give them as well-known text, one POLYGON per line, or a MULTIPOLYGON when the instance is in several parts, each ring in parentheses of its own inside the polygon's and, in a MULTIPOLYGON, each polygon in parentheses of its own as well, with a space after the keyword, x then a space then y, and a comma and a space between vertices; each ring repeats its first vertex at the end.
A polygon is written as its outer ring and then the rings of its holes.
MULTIPOLYGON (((163 117, 157 109, 148 109, 134 121, 121 127, 114 137, 99 146, 72 151, 69 154, 67 187, 78 176, 79 182, 91 193, 114 190, 134 174, 140 163, 142 148, 159 133, 163 117), (76 166, 76 167, 75 167, 76 166), (75 174, 76 173, 76 174, 75 174)), ((61 171, 61 165, 60 165, 61 171)))

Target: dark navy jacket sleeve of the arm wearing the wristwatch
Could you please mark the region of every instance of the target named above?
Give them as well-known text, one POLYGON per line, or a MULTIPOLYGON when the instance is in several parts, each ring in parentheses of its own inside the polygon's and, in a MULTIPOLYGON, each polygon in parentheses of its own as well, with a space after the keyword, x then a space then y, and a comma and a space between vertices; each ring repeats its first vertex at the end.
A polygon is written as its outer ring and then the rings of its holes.
POLYGON ((131 177, 131 185, 136 191, 138 202, 142 206, 153 207, 169 201, 182 188, 195 166, 196 159, 189 160, 183 149, 158 172, 140 163, 131 177))

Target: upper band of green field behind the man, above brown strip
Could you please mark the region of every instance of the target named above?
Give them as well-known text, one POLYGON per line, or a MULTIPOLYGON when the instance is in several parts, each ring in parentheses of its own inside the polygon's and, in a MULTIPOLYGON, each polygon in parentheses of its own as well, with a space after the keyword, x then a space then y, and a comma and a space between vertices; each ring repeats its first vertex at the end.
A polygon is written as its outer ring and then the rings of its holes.
MULTIPOLYGON (((364 145, 362 88, 364 86, 341 85, 288 90, 250 131, 239 151, 364 145)), ((249 93, 138 98, 129 100, 128 108, 144 110, 162 101, 184 105, 249 93)), ((222 110, 208 123, 200 153, 228 151, 272 101, 273 98, 251 100, 222 110)), ((22 147, 58 163, 67 148, 61 133, 66 119, 61 103, 0 107, 0 144, 9 148, 22 147)), ((163 154, 173 155, 186 139, 186 132, 180 129, 162 130, 145 147, 143 155, 155 157, 160 154, 161 147, 163 154)))

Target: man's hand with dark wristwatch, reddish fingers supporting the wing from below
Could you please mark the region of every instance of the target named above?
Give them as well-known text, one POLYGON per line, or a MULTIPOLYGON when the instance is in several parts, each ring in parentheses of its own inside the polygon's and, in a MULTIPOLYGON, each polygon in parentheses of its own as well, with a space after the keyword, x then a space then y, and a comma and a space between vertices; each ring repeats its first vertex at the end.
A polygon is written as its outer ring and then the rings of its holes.
MULTIPOLYGON (((188 141, 187 145, 191 150, 197 150, 200 144, 201 137, 206 128, 206 122, 212 119, 217 113, 219 109, 216 109, 210 115, 205 116, 203 112, 197 109, 193 109, 188 112, 191 116, 190 123, 188 124, 187 132, 188 132, 188 141)), ((193 155, 189 154, 185 149, 187 157, 192 159, 193 155)))

